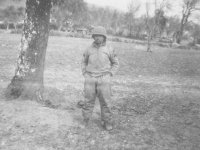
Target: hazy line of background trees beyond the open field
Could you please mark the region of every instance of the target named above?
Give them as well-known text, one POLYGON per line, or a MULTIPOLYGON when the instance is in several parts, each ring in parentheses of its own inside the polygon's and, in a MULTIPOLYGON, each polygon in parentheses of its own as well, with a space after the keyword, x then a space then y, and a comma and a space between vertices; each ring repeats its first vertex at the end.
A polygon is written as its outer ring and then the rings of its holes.
MULTIPOLYGON (((194 42, 200 42, 200 25, 189 19, 195 10, 199 10, 200 0, 182 0, 182 16, 170 17, 166 16, 166 11, 171 11, 173 2, 170 0, 146 3, 146 12, 140 17, 136 15, 141 4, 133 0, 128 4, 127 12, 87 4, 84 0, 61 1, 62 4, 52 6, 50 12, 50 28, 53 30, 75 31, 77 28, 86 28, 91 31, 93 26, 102 25, 108 34, 115 36, 141 40, 173 38, 177 43, 192 37, 194 42), (153 11, 153 15, 149 15, 149 11, 153 11)), ((0 9, 0 19, 4 28, 8 29, 9 23, 12 23, 14 28, 20 28, 24 13, 25 8, 22 6, 0 9)))

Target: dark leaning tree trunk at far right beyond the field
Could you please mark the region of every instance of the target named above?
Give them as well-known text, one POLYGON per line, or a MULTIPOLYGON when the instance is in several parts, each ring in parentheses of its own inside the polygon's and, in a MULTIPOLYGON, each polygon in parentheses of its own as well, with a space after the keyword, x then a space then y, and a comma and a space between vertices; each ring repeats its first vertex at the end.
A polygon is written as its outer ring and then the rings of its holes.
POLYGON ((191 16, 191 14, 195 10, 200 10, 200 7, 198 6, 200 3, 200 0, 183 0, 182 4, 182 18, 180 22, 180 28, 179 31, 176 34, 176 42, 180 44, 182 36, 183 36, 183 31, 185 26, 188 23, 188 19, 191 16))

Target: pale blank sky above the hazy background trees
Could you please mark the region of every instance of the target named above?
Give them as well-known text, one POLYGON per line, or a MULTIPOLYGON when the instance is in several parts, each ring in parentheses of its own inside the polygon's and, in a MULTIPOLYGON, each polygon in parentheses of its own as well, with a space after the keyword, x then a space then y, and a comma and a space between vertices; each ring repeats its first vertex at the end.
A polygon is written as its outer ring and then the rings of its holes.
MULTIPOLYGON (((155 6, 154 5, 155 0, 133 0, 133 2, 141 4, 139 15, 142 15, 146 12, 146 7, 145 7, 146 1, 151 3, 151 5, 150 5, 151 9, 154 10, 155 9, 155 7, 154 7, 155 6)), ((159 2, 159 0, 157 0, 157 1, 159 2)), ((180 1, 181 0, 171 0, 171 1, 172 1, 172 4, 173 4, 171 15, 176 15, 176 14, 180 15, 180 12, 181 12, 180 1)), ((121 10, 123 12, 127 12, 128 11, 128 4, 130 4, 131 0, 85 0, 85 2, 95 4, 95 5, 99 5, 99 6, 110 6, 110 7, 113 7, 113 8, 117 8, 118 10, 121 10)), ((169 15, 170 15, 170 13, 169 13, 169 15)))

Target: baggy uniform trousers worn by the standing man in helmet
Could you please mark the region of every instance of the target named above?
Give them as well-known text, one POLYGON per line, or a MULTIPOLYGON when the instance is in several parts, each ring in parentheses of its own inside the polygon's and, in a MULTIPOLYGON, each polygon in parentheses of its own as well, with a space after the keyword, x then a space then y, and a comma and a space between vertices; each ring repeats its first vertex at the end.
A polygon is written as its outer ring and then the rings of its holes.
POLYGON ((84 83, 84 106, 82 115, 84 119, 90 119, 94 109, 96 98, 99 99, 101 108, 101 119, 104 122, 111 121, 111 112, 108 103, 111 99, 111 76, 110 74, 92 77, 88 74, 85 76, 84 83))

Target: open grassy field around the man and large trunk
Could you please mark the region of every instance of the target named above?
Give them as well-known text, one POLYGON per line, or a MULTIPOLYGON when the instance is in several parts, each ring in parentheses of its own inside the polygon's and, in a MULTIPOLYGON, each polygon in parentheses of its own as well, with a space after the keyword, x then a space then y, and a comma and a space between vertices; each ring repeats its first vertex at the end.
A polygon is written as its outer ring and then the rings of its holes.
MULTIPOLYGON (((14 75, 20 35, 0 35, 0 92, 14 75)), ((0 100, 3 150, 199 150, 200 52, 109 42, 120 69, 113 77, 111 110, 115 129, 100 124, 99 104, 81 130, 83 99, 80 60, 91 39, 50 37, 45 98, 57 109, 33 101, 0 100)))

